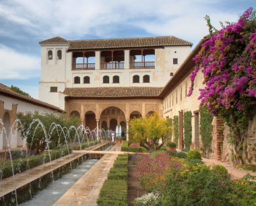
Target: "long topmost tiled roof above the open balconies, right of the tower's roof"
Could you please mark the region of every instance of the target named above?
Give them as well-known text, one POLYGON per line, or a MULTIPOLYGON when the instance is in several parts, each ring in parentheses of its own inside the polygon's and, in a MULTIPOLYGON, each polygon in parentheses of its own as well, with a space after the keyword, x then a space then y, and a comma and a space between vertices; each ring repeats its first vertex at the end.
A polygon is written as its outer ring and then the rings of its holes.
POLYGON ((182 40, 181 38, 177 38, 175 36, 73 40, 70 41, 69 50, 159 46, 192 46, 192 43, 186 40, 182 40))

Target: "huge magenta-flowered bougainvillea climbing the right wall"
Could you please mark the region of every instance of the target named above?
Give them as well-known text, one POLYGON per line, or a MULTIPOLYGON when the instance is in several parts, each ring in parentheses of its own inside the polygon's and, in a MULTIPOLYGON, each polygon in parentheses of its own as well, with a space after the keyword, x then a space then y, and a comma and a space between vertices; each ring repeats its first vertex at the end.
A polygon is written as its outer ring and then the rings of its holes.
POLYGON ((200 105, 215 116, 222 116, 231 127, 235 160, 241 163, 242 133, 247 129, 256 104, 256 15, 253 8, 247 9, 236 24, 228 24, 208 36, 194 61, 188 96, 193 92, 193 81, 201 69, 205 88, 199 90, 200 105))

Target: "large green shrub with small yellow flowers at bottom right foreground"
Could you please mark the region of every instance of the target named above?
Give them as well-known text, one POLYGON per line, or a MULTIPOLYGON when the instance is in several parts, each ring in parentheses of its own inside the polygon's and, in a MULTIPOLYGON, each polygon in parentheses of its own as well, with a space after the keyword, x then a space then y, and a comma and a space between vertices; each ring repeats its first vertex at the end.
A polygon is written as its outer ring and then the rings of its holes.
POLYGON ((177 167, 166 175, 159 205, 228 205, 228 178, 220 178, 210 166, 177 167))

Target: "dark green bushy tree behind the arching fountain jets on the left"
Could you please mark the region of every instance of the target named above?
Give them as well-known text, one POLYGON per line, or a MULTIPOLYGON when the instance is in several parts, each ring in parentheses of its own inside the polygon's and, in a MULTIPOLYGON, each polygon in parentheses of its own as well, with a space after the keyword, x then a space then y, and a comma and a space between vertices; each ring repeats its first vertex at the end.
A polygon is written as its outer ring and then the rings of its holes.
MULTIPOLYGON (((58 144, 65 143, 65 137, 61 132, 61 128, 53 127, 52 123, 56 123, 62 128, 67 127, 68 129, 72 125, 77 127, 80 122, 77 117, 65 119, 63 114, 39 114, 38 112, 34 112, 34 114, 32 112, 20 113, 18 114, 18 119, 22 122, 22 124, 18 125, 18 131, 20 131, 22 138, 26 138, 29 147, 36 154, 42 153, 46 149, 46 139, 49 139, 51 147, 54 148, 57 148, 58 144)), ((67 135, 67 130, 65 130, 65 135, 67 135)), ((72 141, 75 137, 74 131, 71 131, 69 137, 72 141)))

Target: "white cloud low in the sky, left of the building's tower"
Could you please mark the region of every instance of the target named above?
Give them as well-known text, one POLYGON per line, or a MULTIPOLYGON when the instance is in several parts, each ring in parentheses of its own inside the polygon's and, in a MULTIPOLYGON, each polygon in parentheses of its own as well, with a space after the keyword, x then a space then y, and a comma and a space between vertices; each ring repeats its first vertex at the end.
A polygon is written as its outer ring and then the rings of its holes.
POLYGON ((0 44, 0 79, 28 79, 40 75, 40 58, 0 44))

